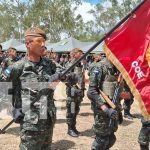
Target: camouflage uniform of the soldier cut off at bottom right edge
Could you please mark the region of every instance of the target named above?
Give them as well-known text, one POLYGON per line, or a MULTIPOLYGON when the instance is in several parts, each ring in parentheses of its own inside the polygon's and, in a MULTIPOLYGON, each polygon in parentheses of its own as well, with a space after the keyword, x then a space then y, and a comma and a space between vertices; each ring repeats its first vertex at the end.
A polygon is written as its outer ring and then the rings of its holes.
POLYGON ((141 119, 142 128, 139 133, 138 142, 140 144, 140 150, 149 150, 150 142, 150 121, 141 119))

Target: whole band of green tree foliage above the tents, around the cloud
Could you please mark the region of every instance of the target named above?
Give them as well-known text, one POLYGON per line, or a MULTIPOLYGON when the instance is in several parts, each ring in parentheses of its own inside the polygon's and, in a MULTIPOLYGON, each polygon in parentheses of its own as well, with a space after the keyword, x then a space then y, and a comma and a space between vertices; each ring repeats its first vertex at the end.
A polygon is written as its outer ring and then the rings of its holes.
POLYGON ((22 40, 31 26, 43 28, 50 42, 58 42, 62 33, 81 41, 97 41, 139 2, 103 0, 89 12, 95 21, 84 23, 81 15, 74 14, 81 0, 1 0, 0 42, 12 37, 22 40))

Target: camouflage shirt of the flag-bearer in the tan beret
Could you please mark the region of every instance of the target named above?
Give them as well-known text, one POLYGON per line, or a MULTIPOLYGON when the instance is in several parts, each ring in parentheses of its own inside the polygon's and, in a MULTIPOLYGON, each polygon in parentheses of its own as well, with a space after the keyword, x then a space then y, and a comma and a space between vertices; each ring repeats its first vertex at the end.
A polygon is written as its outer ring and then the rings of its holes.
POLYGON ((18 85, 17 90, 13 91, 17 96, 14 107, 22 108, 25 114, 24 129, 45 130, 45 126, 37 124, 39 120, 46 119, 47 114, 55 120, 54 89, 53 86, 49 88, 51 83, 48 81, 56 70, 55 63, 47 58, 41 58, 38 63, 24 58, 9 66, 0 76, 1 80, 18 85))

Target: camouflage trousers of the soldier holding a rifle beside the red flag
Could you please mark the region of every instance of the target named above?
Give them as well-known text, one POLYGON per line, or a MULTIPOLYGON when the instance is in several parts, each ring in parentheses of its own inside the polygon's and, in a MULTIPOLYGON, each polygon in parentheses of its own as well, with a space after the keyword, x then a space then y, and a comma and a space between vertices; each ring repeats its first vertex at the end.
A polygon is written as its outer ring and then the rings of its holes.
POLYGON ((92 143, 92 150, 108 150, 116 142, 114 132, 118 129, 117 120, 114 120, 110 125, 110 118, 100 110, 95 103, 92 102, 92 109, 94 112, 93 130, 95 133, 95 140, 92 143))

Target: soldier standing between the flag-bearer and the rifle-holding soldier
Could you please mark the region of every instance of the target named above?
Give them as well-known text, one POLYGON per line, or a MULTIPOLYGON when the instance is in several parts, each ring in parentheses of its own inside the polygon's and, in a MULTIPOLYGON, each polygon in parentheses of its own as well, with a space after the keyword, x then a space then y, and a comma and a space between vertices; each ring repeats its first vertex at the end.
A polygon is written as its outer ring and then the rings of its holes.
MULTIPOLYGON (((65 67, 71 66, 83 54, 82 50, 75 48, 70 52, 70 61, 65 67)), ((67 124, 68 134, 72 137, 78 137, 79 132, 76 129, 76 118, 80 111, 80 104, 84 97, 84 71, 83 66, 79 63, 72 71, 75 74, 74 78, 70 78, 66 83, 67 94, 67 124)))

